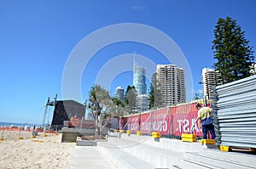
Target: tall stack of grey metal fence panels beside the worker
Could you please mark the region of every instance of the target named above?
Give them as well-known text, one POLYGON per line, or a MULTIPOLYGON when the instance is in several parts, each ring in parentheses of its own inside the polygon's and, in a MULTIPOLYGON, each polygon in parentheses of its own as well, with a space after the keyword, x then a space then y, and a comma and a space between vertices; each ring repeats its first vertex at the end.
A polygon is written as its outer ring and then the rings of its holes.
POLYGON ((256 76, 216 87, 217 144, 256 148, 256 76))

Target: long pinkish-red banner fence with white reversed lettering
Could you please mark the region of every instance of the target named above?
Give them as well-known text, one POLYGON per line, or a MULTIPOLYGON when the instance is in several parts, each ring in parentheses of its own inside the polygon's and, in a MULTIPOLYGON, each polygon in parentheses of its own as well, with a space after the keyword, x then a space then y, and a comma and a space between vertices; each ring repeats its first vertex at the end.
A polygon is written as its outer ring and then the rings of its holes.
MULTIPOLYGON (((141 114, 128 115, 119 119, 119 129, 130 130, 132 133, 141 131, 143 135, 151 132, 160 132, 167 138, 181 138, 182 133, 191 133, 191 127, 197 118, 196 103, 179 104, 158 110, 151 110, 141 114)), ((208 104, 207 106, 210 106, 208 104)), ((201 127, 198 124, 193 133, 202 137, 201 127)))

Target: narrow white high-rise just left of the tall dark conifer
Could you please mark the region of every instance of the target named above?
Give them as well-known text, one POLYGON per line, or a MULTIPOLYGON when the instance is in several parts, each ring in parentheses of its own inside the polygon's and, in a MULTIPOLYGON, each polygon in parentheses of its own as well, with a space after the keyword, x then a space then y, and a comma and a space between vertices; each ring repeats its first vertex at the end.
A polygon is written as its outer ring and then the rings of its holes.
POLYGON ((204 98, 212 98, 212 87, 216 87, 216 76, 218 73, 210 68, 204 68, 201 71, 201 84, 203 87, 204 98))

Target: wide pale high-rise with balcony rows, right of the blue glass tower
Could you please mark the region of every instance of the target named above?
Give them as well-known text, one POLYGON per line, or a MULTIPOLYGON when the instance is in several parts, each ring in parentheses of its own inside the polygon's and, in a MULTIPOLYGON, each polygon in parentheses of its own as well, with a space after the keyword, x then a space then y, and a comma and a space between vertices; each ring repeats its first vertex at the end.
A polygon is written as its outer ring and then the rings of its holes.
POLYGON ((186 102, 185 76, 183 68, 177 65, 157 65, 157 87, 161 106, 186 102))

